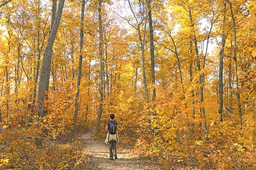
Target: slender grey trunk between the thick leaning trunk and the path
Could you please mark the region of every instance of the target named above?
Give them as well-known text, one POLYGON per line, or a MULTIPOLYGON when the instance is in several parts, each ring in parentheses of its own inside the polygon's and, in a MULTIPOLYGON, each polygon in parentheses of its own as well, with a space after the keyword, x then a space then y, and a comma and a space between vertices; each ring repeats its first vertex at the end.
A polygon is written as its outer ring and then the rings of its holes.
POLYGON ((79 65, 78 65, 78 74, 77 74, 77 92, 76 92, 76 99, 75 99, 75 112, 74 112, 74 125, 71 132, 71 136, 75 136, 76 130, 76 122, 77 122, 77 114, 78 114, 78 101, 79 101, 79 92, 80 92, 80 82, 81 82, 81 74, 82 74, 82 59, 83 59, 83 43, 84 43, 84 6, 85 0, 82 0, 82 7, 81 7, 81 22, 80 22, 80 49, 79 49, 79 65))

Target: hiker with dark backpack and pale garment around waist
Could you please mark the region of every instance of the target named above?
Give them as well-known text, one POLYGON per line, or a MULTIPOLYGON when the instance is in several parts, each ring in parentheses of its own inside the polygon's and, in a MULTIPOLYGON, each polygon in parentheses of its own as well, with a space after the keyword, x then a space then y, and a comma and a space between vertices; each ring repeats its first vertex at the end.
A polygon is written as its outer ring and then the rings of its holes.
POLYGON ((107 121, 107 125, 105 127, 105 130, 108 131, 105 143, 109 143, 109 159, 113 160, 113 155, 115 156, 115 159, 117 159, 116 156, 116 143, 118 142, 118 136, 117 136, 117 122, 114 120, 115 115, 112 113, 110 114, 110 120, 107 121))

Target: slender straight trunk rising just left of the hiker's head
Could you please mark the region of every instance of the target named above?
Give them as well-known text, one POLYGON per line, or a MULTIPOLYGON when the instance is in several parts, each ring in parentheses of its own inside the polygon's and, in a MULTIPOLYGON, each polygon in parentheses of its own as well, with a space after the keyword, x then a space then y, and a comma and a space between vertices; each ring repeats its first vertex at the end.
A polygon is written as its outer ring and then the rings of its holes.
POLYGON ((102 107, 103 107, 103 74, 104 74, 104 65, 103 65, 103 56, 102 56, 102 0, 99 0, 99 59, 100 59, 100 72, 99 72, 99 111, 97 117, 97 125, 96 128, 99 130, 100 119, 102 115, 102 107))

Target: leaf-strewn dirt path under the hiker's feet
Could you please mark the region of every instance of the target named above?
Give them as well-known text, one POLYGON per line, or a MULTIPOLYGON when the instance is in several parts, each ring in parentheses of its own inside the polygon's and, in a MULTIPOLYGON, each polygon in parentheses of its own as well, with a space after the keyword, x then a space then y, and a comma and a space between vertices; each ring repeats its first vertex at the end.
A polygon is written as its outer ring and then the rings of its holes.
POLYGON ((84 144, 84 152, 90 155, 89 164, 95 167, 94 170, 152 170, 153 167, 141 159, 138 155, 132 154, 131 150, 119 150, 116 144, 118 159, 109 160, 109 148, 105 141, 97 141, 88 131, 81 135, 81 142, 84 144))

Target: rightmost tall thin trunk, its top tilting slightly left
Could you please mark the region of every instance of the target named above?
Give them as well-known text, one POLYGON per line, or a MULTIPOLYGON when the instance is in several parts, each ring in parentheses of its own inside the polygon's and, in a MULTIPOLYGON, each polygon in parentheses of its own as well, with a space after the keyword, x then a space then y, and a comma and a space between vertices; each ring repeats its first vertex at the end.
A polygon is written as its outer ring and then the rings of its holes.
MULTIPOLYGON (((238 100, 238 109, 239 109, 239 124, 243 125, 242 121, 242 108, 241 108, 241 101, 240 101, 240 92, 239 92, 239 78, 238 78, 238 68, 237 68, 237 57, 236 57, 236 50, 237 50, 237 43, 236 43, 236 22, 235 17, 233 14, 232 3, 228 1, 230 4, 230 12, 231 18, 233 21, 233 32, 234 32, 234 42, 235 42, 235 52, 234 52, 234 60, 235 60, 235 69, 236 69, 236 99, 238 100)), ((241 60, 241 58, 240 58, 241 60)))

